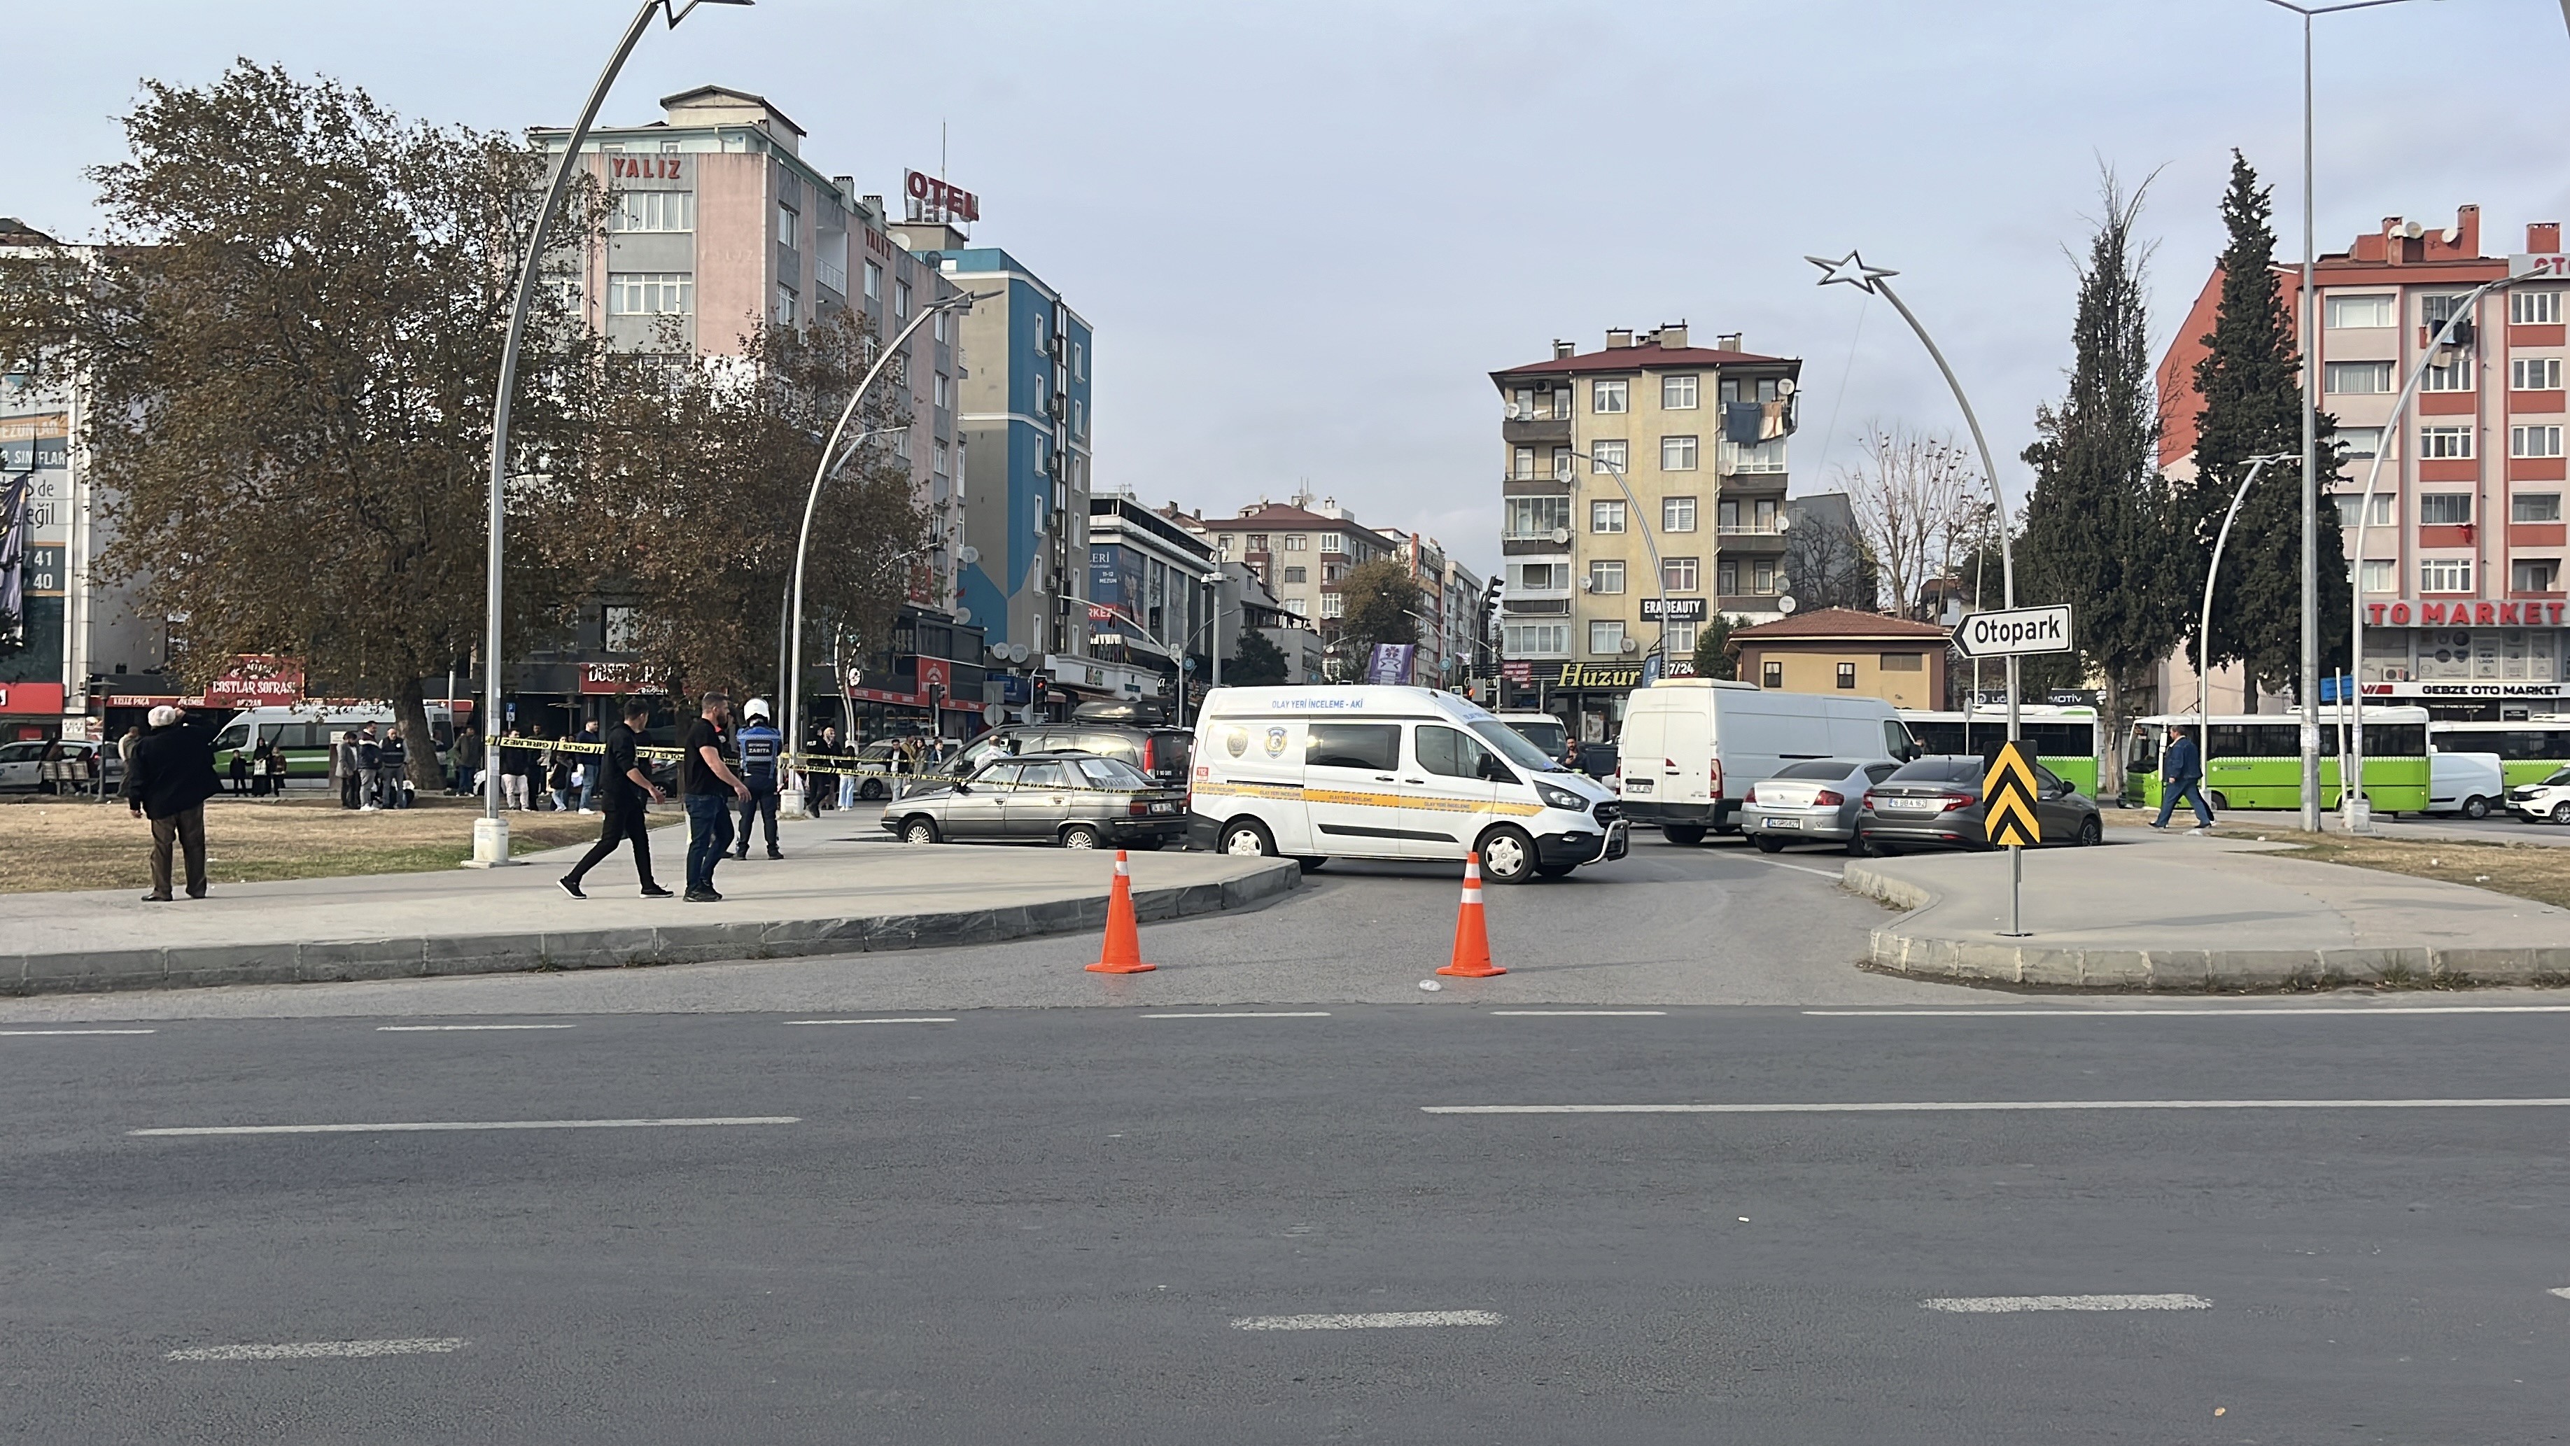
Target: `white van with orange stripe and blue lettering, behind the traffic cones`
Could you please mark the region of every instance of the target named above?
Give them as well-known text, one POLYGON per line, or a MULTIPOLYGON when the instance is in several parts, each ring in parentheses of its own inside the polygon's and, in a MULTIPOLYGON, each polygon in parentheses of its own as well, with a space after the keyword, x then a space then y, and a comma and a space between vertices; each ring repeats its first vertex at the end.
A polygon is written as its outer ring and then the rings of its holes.
POLYGON ((1437 688, 1216 688, 1195 719, 1187 842, 1326 858, 1480 850, 1496 884, 1624 858, 1617 796, 1437 688))

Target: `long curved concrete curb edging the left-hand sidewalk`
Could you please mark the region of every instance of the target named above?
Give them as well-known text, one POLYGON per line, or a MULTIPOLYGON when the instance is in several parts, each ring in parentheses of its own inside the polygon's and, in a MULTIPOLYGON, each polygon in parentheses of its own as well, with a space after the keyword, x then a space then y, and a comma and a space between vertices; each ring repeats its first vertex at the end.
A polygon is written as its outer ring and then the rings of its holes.
MULTIPOLYGON (((1303 884, 1303 866, 1277 860, 1223 884, 1136 889, 1133 912, 1182 919, 1249 909, 1303 884)), ((208 989, 218 984, 347 984, 532 968, 635 968, 727 958, 889 953, 1064 935, 1105 927, 1105 894, 943 914, 825 919, 735 919, 506 935, 439 935, 278 945, 177 945, 152 950, 0 953, 0 997, 208 989)))

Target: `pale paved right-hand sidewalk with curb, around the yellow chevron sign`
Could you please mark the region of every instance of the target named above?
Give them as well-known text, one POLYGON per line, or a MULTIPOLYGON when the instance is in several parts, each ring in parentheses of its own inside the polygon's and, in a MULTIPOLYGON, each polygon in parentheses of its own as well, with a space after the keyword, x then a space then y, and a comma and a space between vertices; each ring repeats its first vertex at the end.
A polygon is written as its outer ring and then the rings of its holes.
POLYGON ((2282 845, 2131 837, 2025 853, 2007 927, 1997 853, 1868 858, 1845 884, 1910 909, 1874 930, 1876 968, 2041 989, 2305 989, 2336 984, 2570 984, 2570 914, 2372 868, 2280 858, 2282 845))

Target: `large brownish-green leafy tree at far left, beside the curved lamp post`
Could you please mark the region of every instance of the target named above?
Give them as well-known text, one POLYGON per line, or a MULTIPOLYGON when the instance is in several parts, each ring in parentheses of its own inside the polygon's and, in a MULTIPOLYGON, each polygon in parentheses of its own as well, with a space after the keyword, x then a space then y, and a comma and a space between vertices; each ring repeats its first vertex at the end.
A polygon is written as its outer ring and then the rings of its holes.
MULTIPOLYGON (((0 262, 8 367, 93 388, 100 568, 188 614, 190 683, 285 652, 427 737, 421 678, 483 637, 491 390, 545 162, 249 62, 146 80, 123 126, 131 154, 90 172, 111 244, 0 262)), ((594 195, 565 234, 591 223, 594 195)), ((511 431, 529 462, 576 449, 594 357, 542 288, 511 431)), ((517 637, 568 596, 511 547, 517 637)), ((434 768, 411 753, 416 783, 434 768)))

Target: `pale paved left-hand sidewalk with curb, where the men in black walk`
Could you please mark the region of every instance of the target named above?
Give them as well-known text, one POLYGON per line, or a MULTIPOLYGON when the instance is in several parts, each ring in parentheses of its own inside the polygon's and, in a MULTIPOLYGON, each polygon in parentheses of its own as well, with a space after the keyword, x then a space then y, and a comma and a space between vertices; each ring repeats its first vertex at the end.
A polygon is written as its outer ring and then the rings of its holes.
MULTIPOLYGON (((676 886, 684 837, 653 837, 676 886)), ((997 943, 1105 922, 1113 853, 912 848, 874 814, 789 819, 784 860, 753 853, 714 876, 720 904, 642 899, 630 855, 571 899, 555 889, 581 848, 517 868, 368 873, 234 884, 211 899, 144 904, 134 891, 0 894, 0 994, 303 984, 709 963, 997 943)), ((1280 858, 1131 855, 1144 919, 1241 909, 1300 881, 1280 858)))

